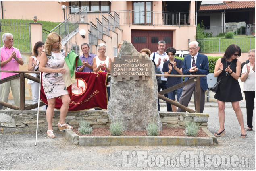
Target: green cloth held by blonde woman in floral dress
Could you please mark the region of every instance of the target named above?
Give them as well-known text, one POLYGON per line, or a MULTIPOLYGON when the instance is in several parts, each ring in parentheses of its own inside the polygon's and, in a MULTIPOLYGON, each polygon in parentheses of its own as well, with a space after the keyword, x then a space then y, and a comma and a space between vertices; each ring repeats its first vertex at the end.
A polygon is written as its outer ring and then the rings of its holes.
POLYGON ((69 71, 70 71, 70 75, 71 77, 74 74, 74 70, 75 70, 75 60, 78 57, 77 60, 77 66, 83 65, 82 61, 80 60, 79 56, 74 52, 74 50, 72 50, 71 52, 68 53, 68 55, 64 58, 64 60, 67 63, 67 66, 69 66, 69 71))

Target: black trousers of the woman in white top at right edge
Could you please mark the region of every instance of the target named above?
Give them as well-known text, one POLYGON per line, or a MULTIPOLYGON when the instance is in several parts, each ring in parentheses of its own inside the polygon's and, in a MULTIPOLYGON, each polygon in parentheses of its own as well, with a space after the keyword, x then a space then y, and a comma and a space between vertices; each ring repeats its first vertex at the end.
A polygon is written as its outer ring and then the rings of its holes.
POLYGON ((247 126, 252 128, 255 91, 244 91, 244 97, 246 99, 247 126))

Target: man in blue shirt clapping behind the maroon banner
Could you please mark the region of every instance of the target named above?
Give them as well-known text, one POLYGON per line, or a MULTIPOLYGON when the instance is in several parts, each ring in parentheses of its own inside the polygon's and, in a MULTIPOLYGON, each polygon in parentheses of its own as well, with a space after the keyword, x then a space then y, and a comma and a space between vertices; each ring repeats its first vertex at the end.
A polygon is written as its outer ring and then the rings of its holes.
POLYGON ((83 65, 77 66, 77 72, 93 72, 92 59, 96 56, 96 54, 91 54, 89 50, 90 47, 88 43, 81 44, 81 51, 83 52, 83 55, 79 56, 79 58, 82 61, 83 65))

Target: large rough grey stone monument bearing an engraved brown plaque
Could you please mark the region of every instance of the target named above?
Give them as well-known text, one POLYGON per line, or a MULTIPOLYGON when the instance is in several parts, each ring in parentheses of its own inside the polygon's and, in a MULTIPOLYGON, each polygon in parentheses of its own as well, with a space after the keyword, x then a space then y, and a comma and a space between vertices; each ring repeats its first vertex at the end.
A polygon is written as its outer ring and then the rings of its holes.
POLYGON ((111 121, 121 121, 126 130, 146 130, 152 120, 162 130, 154 64, 125 40, 111 64, 108 115, 111 121))

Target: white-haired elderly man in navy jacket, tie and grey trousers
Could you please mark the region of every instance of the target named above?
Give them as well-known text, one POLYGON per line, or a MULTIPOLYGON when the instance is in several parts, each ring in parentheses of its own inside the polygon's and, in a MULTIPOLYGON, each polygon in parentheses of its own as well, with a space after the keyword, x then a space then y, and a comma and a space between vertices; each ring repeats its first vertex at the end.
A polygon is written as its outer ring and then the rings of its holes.
MULTIPOLYGON (((188 79, 193 79, 193 75, 207 75, 209 74, 209 65, 208 65, 208 57, 204 54, 198 53, 199 48, 198 42, 192 41, 189 43, 189 54, 185 56, 183 60, 182 74, 190 75, 191 77, 185 77, 185 81, 188 79)), ((204 111, 204 97, 205 91, 208 89, 207 78, 200 77, 200 113, 204 111)), ((188 106, 189 101, 191 100, 193 92, 196 92, 196 82, 188 84, 183 87, 183 91, 181 97, 179 99, 179 103, 184 106, 188 106)), ((194 101, 196 106, 196 101, 194 101)), ((186 112, 178 108, 178 112, 186 112)))

